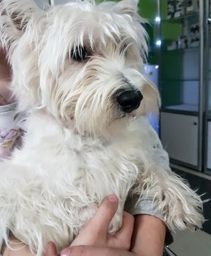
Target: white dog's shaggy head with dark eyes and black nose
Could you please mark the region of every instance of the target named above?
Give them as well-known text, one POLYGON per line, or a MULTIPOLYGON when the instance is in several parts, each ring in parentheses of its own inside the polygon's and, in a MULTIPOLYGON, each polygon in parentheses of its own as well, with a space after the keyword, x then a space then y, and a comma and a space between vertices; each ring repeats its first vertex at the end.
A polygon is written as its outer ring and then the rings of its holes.
POLYGON ((142 72, 144 21, 136 0, 79 0, 47 11, 32 0, 3 0, 0 38, 20 110, 45 108, 89 135, 157 112, 158 91, 142 72))

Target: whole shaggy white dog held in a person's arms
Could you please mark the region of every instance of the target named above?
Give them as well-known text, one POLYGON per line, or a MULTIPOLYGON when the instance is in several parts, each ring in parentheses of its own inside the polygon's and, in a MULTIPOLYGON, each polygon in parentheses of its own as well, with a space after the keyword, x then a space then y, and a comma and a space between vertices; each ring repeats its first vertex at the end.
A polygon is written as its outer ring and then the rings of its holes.
POLYGON ((201 227, 202 200, 169 169, 145 121, 159 94, 142 75, 147 52, 137 3, 75 1, 40 10, 3 0, 0 41, 11 89, 27 111, 23 147, 0 163, 0 236, 42 255, 68 246, 105 196, 147 199, 169 230, 201 227))

